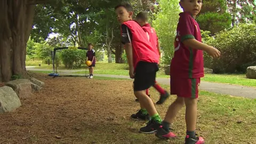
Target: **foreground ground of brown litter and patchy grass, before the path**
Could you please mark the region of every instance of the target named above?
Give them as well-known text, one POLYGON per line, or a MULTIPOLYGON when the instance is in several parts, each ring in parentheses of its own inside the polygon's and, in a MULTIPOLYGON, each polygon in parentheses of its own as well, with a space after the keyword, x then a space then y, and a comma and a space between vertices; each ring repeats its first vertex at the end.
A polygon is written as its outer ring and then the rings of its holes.
MULTIPOLYGON (((22 106, 0 115, 2 143, 183 143, 185 108, 174 120, 172 129, 178 139, 159 140, 154 134, 138 130, 145 122, 132 121, 139 109, 128 79, 95 77, 45 77, 41 91, 21 100, 22 106), (87 90, 93 87, 93 91, 87 90), (10 139, 12 138, 12 139, 10 139)), ((170 90, 167 85, 161 85, 170 90)), ((150 89, 151 98, 158 93, 150 89)), ((164 118, 175 96, 157 105, 164 118)), ((256 100, 229 95, 199 92, 197 134, 206 143, 255 143, 256 100)))

